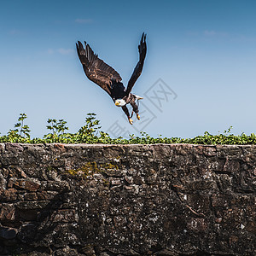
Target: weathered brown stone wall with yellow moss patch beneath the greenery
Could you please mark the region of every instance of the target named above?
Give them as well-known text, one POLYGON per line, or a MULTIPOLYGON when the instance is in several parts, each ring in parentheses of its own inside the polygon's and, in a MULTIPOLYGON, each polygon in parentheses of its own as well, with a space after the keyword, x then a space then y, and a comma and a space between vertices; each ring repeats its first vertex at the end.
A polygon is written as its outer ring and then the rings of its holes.
POLYGON ((0 255, 256 255, 256 147, 0 144, 0 255))

